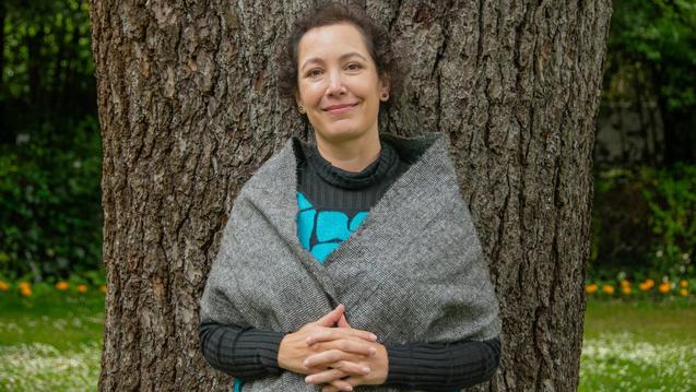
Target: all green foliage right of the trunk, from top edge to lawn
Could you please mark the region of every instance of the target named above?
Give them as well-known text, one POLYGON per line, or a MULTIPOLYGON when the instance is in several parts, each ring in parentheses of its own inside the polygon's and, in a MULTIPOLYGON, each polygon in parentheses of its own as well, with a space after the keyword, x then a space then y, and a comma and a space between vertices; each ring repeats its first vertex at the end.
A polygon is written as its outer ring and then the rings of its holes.
MULTIPOLYGON (((664 134, 637 164, 603 162, 595 153, 589 273, 602 280, 693 276, 696 2, 616 0, 612 5, 602 110, 654 105, 664 134)), ((650 126, 642 138, 654 139, 650 126)))

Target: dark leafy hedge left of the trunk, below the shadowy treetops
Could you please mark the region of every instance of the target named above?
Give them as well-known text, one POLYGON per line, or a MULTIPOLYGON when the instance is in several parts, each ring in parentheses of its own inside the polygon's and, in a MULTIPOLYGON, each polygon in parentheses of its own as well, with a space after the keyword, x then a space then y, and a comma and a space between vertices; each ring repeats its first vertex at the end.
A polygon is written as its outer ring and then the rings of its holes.
POLYGON ((0 275, 40 281, 101 268, 101 150, 93 117, 0 145, 0 275))

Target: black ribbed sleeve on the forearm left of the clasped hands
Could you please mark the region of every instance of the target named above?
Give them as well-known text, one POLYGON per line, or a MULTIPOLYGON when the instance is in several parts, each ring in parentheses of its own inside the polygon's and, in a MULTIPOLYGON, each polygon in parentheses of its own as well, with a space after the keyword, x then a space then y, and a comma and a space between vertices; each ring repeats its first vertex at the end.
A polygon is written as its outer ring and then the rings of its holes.
POLYGON ((278 351, 284 332, 202 322, 198 336, 208 363, 229 376, 252 380, 283 371, 278 351))

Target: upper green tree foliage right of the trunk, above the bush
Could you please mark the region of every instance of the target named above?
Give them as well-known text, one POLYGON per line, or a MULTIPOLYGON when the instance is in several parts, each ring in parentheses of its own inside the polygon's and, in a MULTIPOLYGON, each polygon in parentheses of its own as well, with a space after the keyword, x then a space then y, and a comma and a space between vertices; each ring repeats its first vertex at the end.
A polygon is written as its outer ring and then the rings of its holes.
POLYGON ((696 2, 616 0, 612 7, 602 105, 627 103, 639 110, 654 103, 664 140, 646 164, 694 163, 696 2))

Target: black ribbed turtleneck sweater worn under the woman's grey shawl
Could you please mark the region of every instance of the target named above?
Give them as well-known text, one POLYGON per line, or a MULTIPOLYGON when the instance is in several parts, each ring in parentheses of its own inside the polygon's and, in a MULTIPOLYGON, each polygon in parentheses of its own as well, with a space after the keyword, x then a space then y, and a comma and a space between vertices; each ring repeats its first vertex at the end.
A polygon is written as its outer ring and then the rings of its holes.
MULTIPOLYGON (((349 226, 356 223, 347 230, 356 229, 361 215, 369 213, 369 209, 410 165, 385 141, 381 141, 379 157, 359 173, 332 166, 319 154, 316 145, 308 143, 303 143, 297 162, 298 236, 319 262, 340 241, 330 243, 332 240, 322 240, 314 216, 321 212, 342 213, 346 215, 349 226), (314 211, 314 221, 303 221, 303 211, 314 211)), ((211 366, 243 380, 278 375, 284 370, 278 366, 278 352, 284 335, 284 332, 217 323, 201 323, 199 326, 201 349, 211 366)), ((487 381, 500 358, 498 337, 484 342, 387 343, 386 348, 389 359, 386 384, 427 391, 451 391, 487 381)))

